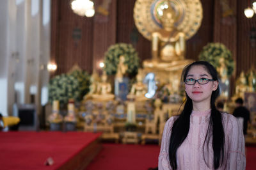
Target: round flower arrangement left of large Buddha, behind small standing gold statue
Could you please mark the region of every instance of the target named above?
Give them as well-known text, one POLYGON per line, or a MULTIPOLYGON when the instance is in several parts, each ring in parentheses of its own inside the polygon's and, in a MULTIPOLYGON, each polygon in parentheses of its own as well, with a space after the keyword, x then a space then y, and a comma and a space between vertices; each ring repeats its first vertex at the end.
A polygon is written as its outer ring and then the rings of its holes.
POLYGON ((107 74, 115 75, 120 56, 124 56, 125 58, 124 63, 128 67, 126 73, 129 75, 136 75, 140 66, 140 59, 138 58, 138 52, 136 52, 134 47, 127 43, 116 43, 108 48, 108 51, 104 56, 104 70, 107 74))

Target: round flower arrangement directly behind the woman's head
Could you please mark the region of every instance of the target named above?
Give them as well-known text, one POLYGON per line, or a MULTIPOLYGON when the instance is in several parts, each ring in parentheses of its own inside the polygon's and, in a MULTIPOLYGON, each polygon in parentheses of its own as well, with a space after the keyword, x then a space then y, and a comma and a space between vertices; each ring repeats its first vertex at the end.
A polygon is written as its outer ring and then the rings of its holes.
POLYGON ((215 68, 220 68, 221 61, 227 67, 227 76, 230 77, 234 71, 234 59, 230 50, 223 43, 208 43, 199 54, 199 59, 208 61, 215 68))

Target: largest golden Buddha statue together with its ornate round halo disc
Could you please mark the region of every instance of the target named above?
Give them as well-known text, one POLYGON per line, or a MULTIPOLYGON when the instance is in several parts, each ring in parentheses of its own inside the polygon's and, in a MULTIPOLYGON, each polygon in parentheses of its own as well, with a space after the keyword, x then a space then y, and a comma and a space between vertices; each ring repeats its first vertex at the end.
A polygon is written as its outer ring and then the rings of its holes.
POLYGON ((138 31, 152 42, 152 59, 143 61, 143 72, 161 77, 159 84, 168 83, 173 74, 180 76, 184 66, 186 40, 195 35, 202 21, 200 0, 136 0, 134 22, 138 31))

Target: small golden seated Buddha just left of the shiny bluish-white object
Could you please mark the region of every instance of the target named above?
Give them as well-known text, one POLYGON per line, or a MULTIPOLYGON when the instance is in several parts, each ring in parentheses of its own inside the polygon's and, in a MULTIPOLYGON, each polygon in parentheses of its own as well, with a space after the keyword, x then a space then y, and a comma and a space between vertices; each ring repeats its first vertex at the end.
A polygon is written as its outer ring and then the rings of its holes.
POLYGON ((136 83, 132 84, 131 92, 127 95, 127 98, 134 98, 135 100, 147 100, 145 94, 147 93, 147 85, 143 83, 143 75, 139 70, 136 75, 136 83))

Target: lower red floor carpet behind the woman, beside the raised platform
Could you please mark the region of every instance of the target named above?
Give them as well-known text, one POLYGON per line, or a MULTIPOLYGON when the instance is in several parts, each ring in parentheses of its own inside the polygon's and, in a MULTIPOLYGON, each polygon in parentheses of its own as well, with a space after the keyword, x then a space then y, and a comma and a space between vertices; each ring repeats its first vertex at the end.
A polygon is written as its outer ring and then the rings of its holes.
MULTIPOLYGON (((148 169, 157 167, 160 146, 103 144, 99 155, 93 159, 86 170, 99 169, 148 169)), ((246 147, 246 170, 256 169, 256 147, 246 147)))

